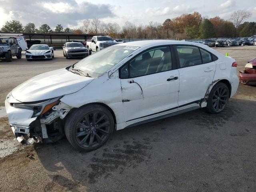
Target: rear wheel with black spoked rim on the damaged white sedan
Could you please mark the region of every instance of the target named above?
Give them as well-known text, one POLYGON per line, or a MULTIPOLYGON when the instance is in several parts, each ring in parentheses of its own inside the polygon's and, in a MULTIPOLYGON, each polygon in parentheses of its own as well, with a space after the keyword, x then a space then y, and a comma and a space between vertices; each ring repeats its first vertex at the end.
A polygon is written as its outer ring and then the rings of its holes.
POLYGON ((222 82, 217 83, 211 90, 207 101, 208 112, 217 114, 226 107, 229 99, 228 86, 222 82))

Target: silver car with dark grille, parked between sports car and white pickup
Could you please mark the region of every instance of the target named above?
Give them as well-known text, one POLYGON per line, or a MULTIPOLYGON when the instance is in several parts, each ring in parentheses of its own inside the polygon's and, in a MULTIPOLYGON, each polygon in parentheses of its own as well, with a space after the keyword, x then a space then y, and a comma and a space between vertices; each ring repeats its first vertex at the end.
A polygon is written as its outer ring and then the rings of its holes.
POLYGON ((80 42, 66 42, 63 48, 63 56, 68 58, 84 58, 89 55, 88 49, 80 42))

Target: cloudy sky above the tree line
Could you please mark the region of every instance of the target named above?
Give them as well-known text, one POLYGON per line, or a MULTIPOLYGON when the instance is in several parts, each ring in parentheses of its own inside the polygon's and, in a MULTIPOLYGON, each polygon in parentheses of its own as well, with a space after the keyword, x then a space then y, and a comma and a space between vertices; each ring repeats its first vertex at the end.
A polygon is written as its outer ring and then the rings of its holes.
POLYGON ((8 20, 20 20, 23 25, 33 22, 37 28, 42 24, 76 28, 92 18, 120 26, 126 21, 146 25, 194 11, 228 20, 235 10, 251 12, 247 21, 256 22, 255 0, 0 0, 0 27, 8 20))

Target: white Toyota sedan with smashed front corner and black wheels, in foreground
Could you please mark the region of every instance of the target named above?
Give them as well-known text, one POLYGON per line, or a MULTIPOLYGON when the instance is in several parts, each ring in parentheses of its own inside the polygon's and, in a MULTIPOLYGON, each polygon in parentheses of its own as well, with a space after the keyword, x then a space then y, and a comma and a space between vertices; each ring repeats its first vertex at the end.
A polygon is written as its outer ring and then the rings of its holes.
POLYGON ((236 61, 206 45, 144 40, 105 48, 14 88, 5 106, 16 139, 95 150, 113 130, 196 108, 224 110, 238 88, 236 61))

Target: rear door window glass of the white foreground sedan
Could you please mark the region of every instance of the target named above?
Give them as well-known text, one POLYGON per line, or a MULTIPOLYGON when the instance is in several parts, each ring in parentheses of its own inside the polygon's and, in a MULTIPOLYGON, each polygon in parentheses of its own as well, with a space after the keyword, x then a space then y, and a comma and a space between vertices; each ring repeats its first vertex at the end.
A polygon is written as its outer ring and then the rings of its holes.
POLYGON ((198 47, 175 46, 178 52, 180 67, 190 67, 202 64, 201 54, 198 47))

